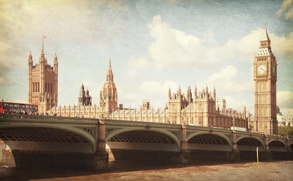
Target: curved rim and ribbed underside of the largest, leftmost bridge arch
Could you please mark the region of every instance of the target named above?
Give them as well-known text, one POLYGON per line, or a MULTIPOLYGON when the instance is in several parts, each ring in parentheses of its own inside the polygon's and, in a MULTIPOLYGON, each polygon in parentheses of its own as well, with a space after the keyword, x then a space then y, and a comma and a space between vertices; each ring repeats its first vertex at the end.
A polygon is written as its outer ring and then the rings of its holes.
MULTIPOLYGON (((95 133, 97 134, 97 133, 95 133)), ((75 126, 68 126, 68 124, 50 124, 47 123, 34 123, 33 125, 27 125, 23 122, 7 122, 7 125, 3 125, 0 128, 0 138, 9 146, 9 143, 13 143, 13 141, 22 141, 24 144, 30 144, 32 142, 38 142, 38 141, 32 141, 32 140, 43 140, 40 142, 50 142, 47 141, 48 138, 55 138, 58 139, 60 136, 63 136, 63 140, 60 142, 60 144, 64 144, 64 142, 68 142, 68 140, 73 137, 80 138, 80 143, 86 144, 88 142, 90 144, 90 147, 87 146, 87 152, 95 153, 96 151, 96 141, 93 136, 91 136, 89 133, 84 131, 83 129, 75 126), (49 133, 50 130, 53 130, 52 135, 47 134, 40 137, 41 133, 49 133), (33 132, 32 134, 29 133, 29 131, 33 132), (9 132, 12 139, 5 137, 5 133, 9 132), (54 133, 60 133, 61 135, 54 135, 54 133), (35 135, 34 135, 35 134, 35 135), (39 135, 38 135, 39 134, 39 135), (66 135, 67 134, 67 135, 66 135), (68 140, 64 140, 65 137, 68 137, 68 140), (47 137, 47 138, 46 138, 47 137), (14 139, 13 139, 14 138, 14 139), (43 138, 43 139, 42 139, 43 138)), ((60 138, 61 139, 61 138, 60 138)), ((59 141, 57 141, 59 142, 59 141)), ((74 142, 74 141, 72 141, 74 142)), ((52 141, 54 143, 54 141, 52 141)), ((56 143, 59 144, 59 143, 56 143)), ((11 148, 11 146, 9 146, 11 148)), ((59 150, 58 150, 59 151, 59 150)))

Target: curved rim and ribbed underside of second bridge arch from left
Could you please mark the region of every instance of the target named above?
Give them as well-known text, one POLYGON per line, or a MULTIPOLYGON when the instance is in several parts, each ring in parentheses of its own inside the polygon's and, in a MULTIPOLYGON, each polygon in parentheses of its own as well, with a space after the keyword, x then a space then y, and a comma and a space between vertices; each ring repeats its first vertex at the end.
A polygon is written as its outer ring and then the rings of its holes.
MULTIPOLYGON (((136 140, 136 141, 140 142, 139 139, 133 138, 133 136, 135 135, 135 132, 141 132, 141 133, 144 132, 145 135, 148 135, 148 136, 150 136, 149 133, 152 132, 153 133, 153 137, 158 137, 159 139, 163 139, 163 140, 165 139, 165 141, 166 141, 166 139, 169 138, 176 145, 176 148, 175 148, 176 150, 174 150, 174 151, 177 151, 177 152, 180 151, 180 141, 179 141, 179 138, 176 137, 173 133, 171 133, 171 132, 169 132, 167 130, 164 130, 164 129, 160 129, 160 128, 146 129, 145 127, 141 127, 141 128, 140 127, 128 127, 128 128, 115 129, 114 131, 111 131, 108 135, 106 135, 105 142, 106 142, 106 144, 109 144, 109 142, 111 141, 110 139, 112 139, 115 136, 117 137, 119 135, 121 135, 124 138, 126 138, 126 141, 125 142, 128 142, 129 141, 129 140, 127 141, 127 138, 128 139, 132 139, 132 140, 136 140), (164 136, 167 136, 167 138, 164 138, 164 136), (132 138, 130 138, 130 137, 132 137, 132 138)), ((180 134, 178 136, 180 136, 180 134)), ((117 139, 121 139, 121 138, 117 138, 117 139)), ((153 138, 153 139, 156 139, 156 138, 153 138)), ((133 141, 133 142, 136 142, 136 141, 133 141)), ((132 142, 132 141, 129 141, 129 142, 132 142)), ((155 143, 155 142, 152 142, 150 140, 149 143, 155 143)))

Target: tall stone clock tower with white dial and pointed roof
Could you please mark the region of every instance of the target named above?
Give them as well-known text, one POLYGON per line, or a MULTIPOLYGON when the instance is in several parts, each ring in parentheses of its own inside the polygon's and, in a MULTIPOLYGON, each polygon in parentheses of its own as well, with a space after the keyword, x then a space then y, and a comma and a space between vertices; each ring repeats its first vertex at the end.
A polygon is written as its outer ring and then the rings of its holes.
POLYGON ((265 32, 254 58, 254 121, 251 130, 265 134, 277 134, 276 81, 277 62, 271 50, 271 40, 265 32))

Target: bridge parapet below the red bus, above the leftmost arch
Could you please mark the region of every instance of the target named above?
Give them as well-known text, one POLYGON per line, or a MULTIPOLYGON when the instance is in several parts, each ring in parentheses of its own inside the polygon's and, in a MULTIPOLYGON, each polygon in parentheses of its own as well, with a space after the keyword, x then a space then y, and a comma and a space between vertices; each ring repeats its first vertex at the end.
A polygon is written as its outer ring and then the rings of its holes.
POLYGON ((98 119, 92 118, 76 118, 76 117, 63 117, 63 116, 42 116, 42 115, 25 115, 25 114, 5 114, 0 113, 0 122, 2 121, 21 121, 21 122, 87 122, 97 123, 98 119))

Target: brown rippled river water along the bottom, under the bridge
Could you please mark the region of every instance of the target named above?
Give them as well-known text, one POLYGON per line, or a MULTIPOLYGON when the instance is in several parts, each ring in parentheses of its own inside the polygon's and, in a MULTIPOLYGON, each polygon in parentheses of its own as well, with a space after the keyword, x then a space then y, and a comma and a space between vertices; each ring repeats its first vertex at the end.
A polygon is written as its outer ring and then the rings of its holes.
POLYGON ((197 165, 111 161, 109 165, 104 173, 0 166, 0 181, 293 181, 293 161, 197 165))

